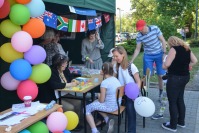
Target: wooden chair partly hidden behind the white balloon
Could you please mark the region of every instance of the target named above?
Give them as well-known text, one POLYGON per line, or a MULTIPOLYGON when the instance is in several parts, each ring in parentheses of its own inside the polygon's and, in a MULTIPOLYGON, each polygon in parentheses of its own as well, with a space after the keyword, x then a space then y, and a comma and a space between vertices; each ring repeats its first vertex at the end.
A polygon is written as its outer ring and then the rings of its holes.
MULTIPOLYGON (((144 76, 141 80, 141 94, 142 96, 148 96, 148 89, 150 86, 150 69, 147 68, 146 76, 144 76)), ((143 128, 145 128, 145 117, 143 117, 143 128)))

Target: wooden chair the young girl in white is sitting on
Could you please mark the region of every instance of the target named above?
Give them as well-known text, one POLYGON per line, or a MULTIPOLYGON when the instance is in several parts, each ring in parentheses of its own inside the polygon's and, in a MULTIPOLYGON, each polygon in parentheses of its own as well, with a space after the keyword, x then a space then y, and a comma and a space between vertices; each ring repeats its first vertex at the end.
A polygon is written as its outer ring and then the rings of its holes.
MULTIPOLYGON (((118 117, 118 128, 117 128, 117 132, 118 133, 120 132, 121 116, 123 116, 123 112, 125 112, 125 109, 126 109, 125 106, 119 104, 119 98, 122 98, 123 96, 124 96, 124 87, 118 87, 117 88, 117 92, 116 92, 118 110, 116 110, 114 112, 102 112, 102 111, 98 111, 98 112, 106 113, 106 114, 109 114, 109 115, 115 115, 115 116, 118 117)), ((125 114, 125 132, 126 132, 126 120, 127 120, 126 117, 127 116, 125 114)))

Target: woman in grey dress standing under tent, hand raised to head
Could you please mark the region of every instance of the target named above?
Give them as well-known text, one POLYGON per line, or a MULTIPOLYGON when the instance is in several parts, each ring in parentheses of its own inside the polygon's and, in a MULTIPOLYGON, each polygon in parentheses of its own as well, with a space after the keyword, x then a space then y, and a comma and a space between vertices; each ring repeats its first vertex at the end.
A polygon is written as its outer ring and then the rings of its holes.
POLYGON ((85 62, 87 68, 98 69, 102 68, 102 58, 100 49, 104 48, 104 43, 96 30, 87 32, 87 38, 82 41, 82 61, 85 62))

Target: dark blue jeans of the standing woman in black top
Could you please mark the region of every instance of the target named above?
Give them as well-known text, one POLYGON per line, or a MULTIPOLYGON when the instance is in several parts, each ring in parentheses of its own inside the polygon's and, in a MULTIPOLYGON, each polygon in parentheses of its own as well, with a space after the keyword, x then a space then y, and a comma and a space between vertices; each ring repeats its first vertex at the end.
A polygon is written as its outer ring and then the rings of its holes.
POLYGON ((167 80, 167 96, 169 100, 170 125, 176 129, 177 124, 185 124, 186 107, 184 104, 184 89, 190 76, 169 75, 167 80))

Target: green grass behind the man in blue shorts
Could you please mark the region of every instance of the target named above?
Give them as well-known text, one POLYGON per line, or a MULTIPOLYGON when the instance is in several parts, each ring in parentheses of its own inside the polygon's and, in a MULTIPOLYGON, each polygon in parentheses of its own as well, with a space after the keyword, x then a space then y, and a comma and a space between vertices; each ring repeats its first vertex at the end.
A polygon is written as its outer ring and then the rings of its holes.
MULTIPOLYGON (((197 59, 199 59, 199 48, 194 47, 194 48, 191 48, 191 50, 194 53, 194 55, 197 57, 197 59)), ((143 52, 140 53, 138 55, 138 57, 134 60, 134 64, 137 66, 141 77, 143 76, 143 59, 142 59, 142 57, 143 57, 143 52)), ((129 60, 131 60, 132 55, 128 55, 128 58, 129 58, 129 60)), ((193 80, 194 75, 197 73, 198 70, 199 70, 199 63, 197 63, 195 66, 193 66, 192 70, 190 71, 190 81, 193 80)), ((152 76, 151 81, 158 82, 157 76, 152 76)))

